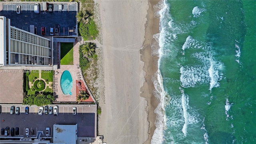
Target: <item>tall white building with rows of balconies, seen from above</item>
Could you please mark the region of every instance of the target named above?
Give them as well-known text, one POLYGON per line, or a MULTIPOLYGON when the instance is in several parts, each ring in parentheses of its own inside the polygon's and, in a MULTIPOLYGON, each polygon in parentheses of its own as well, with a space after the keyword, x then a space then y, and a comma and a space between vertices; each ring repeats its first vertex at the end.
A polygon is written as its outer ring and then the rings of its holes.
POLYGON ((10 26, 0 16, 0 66, 52 66, 50 40, 10 26))

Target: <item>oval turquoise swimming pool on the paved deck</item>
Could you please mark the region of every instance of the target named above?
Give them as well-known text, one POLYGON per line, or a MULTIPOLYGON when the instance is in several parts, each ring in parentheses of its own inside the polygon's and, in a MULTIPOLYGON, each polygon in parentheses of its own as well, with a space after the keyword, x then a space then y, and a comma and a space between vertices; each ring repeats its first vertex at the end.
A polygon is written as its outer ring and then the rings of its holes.
POLYGON ((68 70, 64 70, 60 77, 60 88, 63 94, 68 95, 72 94, 71 90, 73 87, 73 80, 70 72, 68 70))

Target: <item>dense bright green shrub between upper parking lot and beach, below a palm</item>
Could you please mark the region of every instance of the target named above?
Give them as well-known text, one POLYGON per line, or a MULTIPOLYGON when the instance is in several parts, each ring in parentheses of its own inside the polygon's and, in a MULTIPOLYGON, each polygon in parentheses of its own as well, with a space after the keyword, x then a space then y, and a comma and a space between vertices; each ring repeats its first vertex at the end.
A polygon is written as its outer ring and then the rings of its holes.
POLYGON ((84 40, 95 40, 98 36, 98 28, 92 18, 89 18, 89 22, 87 24, 83 24, 79 22, 79 33, 84 38, 84 40))

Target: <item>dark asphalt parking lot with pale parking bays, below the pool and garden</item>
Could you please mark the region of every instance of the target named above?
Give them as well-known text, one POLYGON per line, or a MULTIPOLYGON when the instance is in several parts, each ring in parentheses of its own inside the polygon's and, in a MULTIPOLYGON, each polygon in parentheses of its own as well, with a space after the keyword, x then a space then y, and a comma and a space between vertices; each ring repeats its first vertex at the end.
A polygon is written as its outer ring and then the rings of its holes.
MULTIPOLYGON (((53 106, 53 105, 49 105, 53 106)), ((36 136, 36 132, 39 130, 44 131, 47 127, 50 128, 50 136, 52 136, 52 127, 53 124, 78 124, 78 137, 94 137, 96 130, 95 123, 95 113, 96 106, 88 106, 88 105, 76 105, 77 114, 73 115, 72 113, 72 105, 59 105, 59 113, 58 116, 54 116, 53 114, 42 114, 42 116, 38 115, 38 106, 30 106, 30 110, 28 114, 25 114, 26 106, 20 107, 20 114, 10 114, 10 105, 4 106, 2 105, 2 113, 0 114, 0 127, 5 128, 6 126, 10 128, 18 127, 20 129, 20 136, 25 135, 25 129, 29 128, 29 130, 34 130, 34 135, 36 136)), ((17 106, 16 106, 17 107, 17 106)), ((1 135, 4 136, 4 135, 1 135)), ((10 137, 10 135, 9 135, 10 137)))

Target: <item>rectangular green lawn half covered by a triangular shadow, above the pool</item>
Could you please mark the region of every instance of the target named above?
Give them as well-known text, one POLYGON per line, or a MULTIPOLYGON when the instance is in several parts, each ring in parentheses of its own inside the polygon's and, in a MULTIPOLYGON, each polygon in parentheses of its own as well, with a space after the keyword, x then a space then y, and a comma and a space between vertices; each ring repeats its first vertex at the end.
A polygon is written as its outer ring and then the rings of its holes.
POLYGON ((73 43, 60 43, 60 64, 73 65, 73 43))

